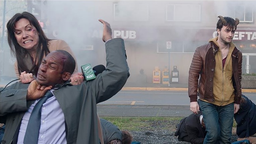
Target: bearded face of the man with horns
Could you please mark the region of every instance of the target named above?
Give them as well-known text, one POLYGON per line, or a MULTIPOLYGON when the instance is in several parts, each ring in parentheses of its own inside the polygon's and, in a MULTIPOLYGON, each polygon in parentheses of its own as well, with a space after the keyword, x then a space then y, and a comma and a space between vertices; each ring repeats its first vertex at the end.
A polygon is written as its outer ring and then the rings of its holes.
POLYGON ((235 35, 235 29, 236 27, 233 27, 233 29, 227 29, 227 26, 222 26, 221 29, 217 29, 218 32, 218 38, 224 43, 229 44, 235 35))

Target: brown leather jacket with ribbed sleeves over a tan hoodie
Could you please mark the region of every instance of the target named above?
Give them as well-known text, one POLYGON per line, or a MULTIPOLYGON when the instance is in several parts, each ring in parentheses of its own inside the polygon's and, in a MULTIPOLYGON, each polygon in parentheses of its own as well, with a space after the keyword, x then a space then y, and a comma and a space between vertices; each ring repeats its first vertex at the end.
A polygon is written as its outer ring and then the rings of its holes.
MULTIPOLYGON (((210 102, 215 101, 213 96, 213 74, 215 68, 214 54, 216 54, 217 51, 218 47, 213 42, 209 42, 196 48, 189 68, 188 95, 190 97, 190 102, 197 101, 197 95, 201 99, 205 99, 210 102)), ((242 53, 236 47, 232 52, 232 68, 232 82, 235 89, 235 103, 240 104, 242 53)))

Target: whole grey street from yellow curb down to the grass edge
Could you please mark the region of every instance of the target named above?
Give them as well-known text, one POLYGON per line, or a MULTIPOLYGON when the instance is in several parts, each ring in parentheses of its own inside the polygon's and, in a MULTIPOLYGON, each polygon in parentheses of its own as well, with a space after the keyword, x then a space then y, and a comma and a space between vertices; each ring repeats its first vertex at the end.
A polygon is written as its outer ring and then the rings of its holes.
MULTIPOLYGON (((256 103, 255 92, 243 92, 256 103)), ((107 101, 97 104, 99 116, 117 117, 187 117, 187 91, 121 90, 107 101)))

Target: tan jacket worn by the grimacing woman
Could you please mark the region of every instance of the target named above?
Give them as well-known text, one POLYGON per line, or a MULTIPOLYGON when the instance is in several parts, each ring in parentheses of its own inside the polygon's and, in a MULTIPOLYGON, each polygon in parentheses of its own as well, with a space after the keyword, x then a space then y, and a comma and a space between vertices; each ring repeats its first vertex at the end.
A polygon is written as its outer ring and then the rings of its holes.
MULTIPOLYGON (((49 47, 48 48, 49 48, 50 52, 55 51, 55 50, 65 50, 68 53, 70 53, 72 55, 72 57, 75 59, 75 61, 76 61, 75 55, 73 54, 72 50, 70 49, 68 44, 65 41, 63 41, 63 40, 51 40, 49 42, 49 47)), ((45 58, 45 56, 44 56, 44 58, 45 58)), ((26 55, 24 57, 23 61, 27 64, 27 68, 31 69, 33 64, 32 64, 32 60, 31 60, 30 55, 26 55)), ((18 63, 17 63, 17 61, 14 64, 14 69, 15 69, 15 73, 16 73, 17 78, 19 78, 20 74, 19 74, 19 71, 18 71, 18 63)), ((77 62, 76 62, 76 67, 75 67, 74 73, 75 72, 78 72, 77 62)))

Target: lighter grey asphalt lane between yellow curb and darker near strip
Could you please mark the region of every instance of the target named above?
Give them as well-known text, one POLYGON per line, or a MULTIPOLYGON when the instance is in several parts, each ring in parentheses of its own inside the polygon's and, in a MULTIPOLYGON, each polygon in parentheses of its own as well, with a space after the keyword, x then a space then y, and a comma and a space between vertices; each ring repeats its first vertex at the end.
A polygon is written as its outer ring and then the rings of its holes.
MULTIPOLYGON (((256 103, 255 92, 243 92, 256 103)), ((99 104, 112 105, 190 105, 187 91, 143 91, 121 90, 110 99, 99 104)))

